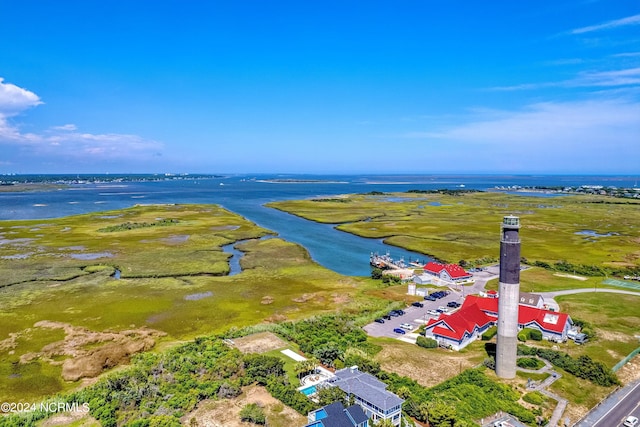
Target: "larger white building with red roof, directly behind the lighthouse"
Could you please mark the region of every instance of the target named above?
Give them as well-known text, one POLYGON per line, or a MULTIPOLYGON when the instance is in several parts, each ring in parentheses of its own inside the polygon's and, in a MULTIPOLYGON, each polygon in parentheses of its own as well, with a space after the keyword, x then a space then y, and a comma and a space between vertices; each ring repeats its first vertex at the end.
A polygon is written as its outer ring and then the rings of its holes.
MULTIPOLYGON (((460 309, 452 314, 441 313, 431 318, 425 336, 440 345, 461 350, 498 321, 498 298, 469 295, 460 309)), ((573 322, 566 313, 544 310, 525 304, 518 306, 518 327, 537 329, 543 339, 566 341, 573 322)))

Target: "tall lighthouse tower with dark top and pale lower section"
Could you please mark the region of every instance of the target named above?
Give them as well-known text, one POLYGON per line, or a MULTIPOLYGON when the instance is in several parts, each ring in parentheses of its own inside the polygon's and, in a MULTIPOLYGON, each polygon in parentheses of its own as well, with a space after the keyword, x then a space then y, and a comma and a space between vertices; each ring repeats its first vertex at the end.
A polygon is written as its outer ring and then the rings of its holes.
POLYGON ((516 376, 518 347, 518 299, 520 296, 520 218, 502 219, 500 239, 500 284, 498 300, 498 345, 496 374, 501 378, 516 376))

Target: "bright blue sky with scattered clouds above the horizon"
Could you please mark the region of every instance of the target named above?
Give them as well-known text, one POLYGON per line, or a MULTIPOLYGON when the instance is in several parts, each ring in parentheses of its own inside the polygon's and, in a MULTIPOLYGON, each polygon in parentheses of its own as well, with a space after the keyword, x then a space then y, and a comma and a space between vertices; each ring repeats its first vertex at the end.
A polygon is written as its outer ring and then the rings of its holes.
POLYGON ((0 173, 640 175, 637 0, 0 6, 0 173))

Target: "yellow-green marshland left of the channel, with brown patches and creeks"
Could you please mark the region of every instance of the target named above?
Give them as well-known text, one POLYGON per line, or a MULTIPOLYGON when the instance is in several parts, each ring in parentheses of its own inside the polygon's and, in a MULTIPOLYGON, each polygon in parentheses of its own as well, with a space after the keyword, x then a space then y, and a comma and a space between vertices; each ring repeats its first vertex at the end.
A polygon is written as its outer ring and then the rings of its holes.
MULTIPOLYGON (((166 334, 162 342, 171 342, 337 306, 358 311, 384 304, 363 294, 376 286, 371 280, 326 270, 297 245, 258 239, 269 233, 209 205, 0 222, 0 400, 37 399, 80 384, 61 378, 61 364, 75 357, 71 351, 47 352, 47 345, 76 338, 36 326, 39 321, 86 328, 87 337, 153 329, 166 334), (99 231, 158 218, 177 222, 99 231), (246 240, 238 244, 244 271, 227 276, 221 246, 238 240, 246 240), (96 254, 102 256, 90 259, 96 254), (116 268, 119 280, 111 276, 116 268), (30 353, 36 357, 21 362, 30 353)), ((74 351, 110 342, 86 339, 74 351)))

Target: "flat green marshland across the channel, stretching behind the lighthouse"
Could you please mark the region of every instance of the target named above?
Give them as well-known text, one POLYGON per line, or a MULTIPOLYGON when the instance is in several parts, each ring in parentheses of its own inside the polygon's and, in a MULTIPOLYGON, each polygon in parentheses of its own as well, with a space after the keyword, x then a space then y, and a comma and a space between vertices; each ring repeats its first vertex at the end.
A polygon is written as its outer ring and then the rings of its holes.
POLYGON ((599 266, 640 266, 640 202, 592 196, 401 193, 295 200, 269 206, 448 262, 496 257, 504 215, 521 218, 522 256, 599 266), (576 234, 592 230, 608 236, 576 234))

